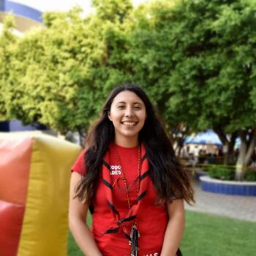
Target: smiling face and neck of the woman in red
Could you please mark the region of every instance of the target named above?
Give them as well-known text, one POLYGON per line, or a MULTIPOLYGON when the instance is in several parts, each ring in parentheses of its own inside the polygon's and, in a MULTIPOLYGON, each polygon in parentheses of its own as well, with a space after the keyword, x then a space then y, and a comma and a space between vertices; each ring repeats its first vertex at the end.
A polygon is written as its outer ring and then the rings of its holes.
POLYGON ((118 140, 138 140, 138 133, 146 121, 146 107, 134 92, 121 91, 113 99, 108 118, 115 127, 118 140))

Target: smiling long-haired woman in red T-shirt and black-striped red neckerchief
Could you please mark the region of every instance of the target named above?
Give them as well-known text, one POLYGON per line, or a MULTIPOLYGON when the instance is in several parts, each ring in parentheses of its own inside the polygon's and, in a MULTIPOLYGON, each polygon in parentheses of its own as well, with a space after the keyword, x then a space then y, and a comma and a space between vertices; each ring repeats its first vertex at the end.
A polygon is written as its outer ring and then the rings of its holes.
POLYGON ((86 256, 181 255, 192 188, 140 87, 113 89, 72 170, 69 227, 86 256))

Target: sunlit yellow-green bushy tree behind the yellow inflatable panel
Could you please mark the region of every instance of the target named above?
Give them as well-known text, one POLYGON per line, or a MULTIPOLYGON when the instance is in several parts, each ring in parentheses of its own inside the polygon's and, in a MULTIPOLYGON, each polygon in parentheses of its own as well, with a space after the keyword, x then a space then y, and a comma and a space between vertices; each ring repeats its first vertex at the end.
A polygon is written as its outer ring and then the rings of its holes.
POLYGON ((97 21, 80 10, 45 15, 47 27, 26 34, 16 52, 25 123, 39 121, 65 134, 87 129, 97 109, 94 72, 105 50, 97 21), (25 60, 24 60, 25 56, 25 60))

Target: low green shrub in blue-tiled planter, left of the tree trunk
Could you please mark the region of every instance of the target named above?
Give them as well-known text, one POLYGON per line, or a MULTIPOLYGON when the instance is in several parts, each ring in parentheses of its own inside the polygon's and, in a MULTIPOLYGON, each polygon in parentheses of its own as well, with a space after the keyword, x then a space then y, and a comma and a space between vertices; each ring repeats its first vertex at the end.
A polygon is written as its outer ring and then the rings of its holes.
POLYGON ((211 178, 232 181, 235 177, 235 169, 231 166, 212 165, 208 168, 208 174, 211 178))

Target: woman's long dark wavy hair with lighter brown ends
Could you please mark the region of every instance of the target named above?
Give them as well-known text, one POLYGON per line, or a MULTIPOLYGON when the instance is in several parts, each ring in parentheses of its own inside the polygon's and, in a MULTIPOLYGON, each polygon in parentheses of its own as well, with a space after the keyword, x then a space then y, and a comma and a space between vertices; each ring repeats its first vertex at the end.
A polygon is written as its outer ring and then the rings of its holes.
POLYGON ((110 92, 102 114, 89 129, 86 137, 86 175, 75 189, 76 197, 83 203, 91 203, 97 187, 102 159, 114 140, 115 129, 108 118, 113 99, 121 91, 132 91, 144 102, 147 118, 139 132, 139 142, 146 146, 150 167, 150 177, 157 190, 159 201, 170 203, 173 199, 183 198, 187 203, 195 202, 189 177, 178 161, 170 139, 156 116, 153 105, 139 86, 124 84, 110 92))

